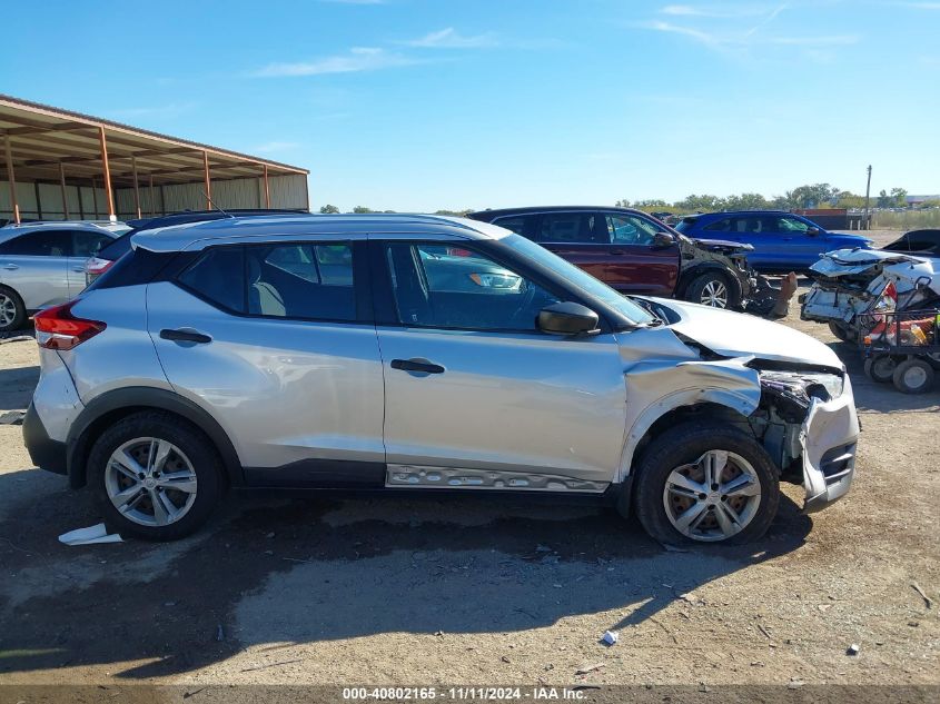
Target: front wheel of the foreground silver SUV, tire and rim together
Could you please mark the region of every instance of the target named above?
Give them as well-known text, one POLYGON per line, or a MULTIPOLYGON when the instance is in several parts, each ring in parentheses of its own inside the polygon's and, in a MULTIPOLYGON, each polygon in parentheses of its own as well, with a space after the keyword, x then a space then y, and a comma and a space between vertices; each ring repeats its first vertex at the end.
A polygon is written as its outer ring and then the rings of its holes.
POLYGON ((746 543, 780 503, 776 469, 748 433, 682 424, 654 439, 636 469, 635 509, 661 543, 746 543))

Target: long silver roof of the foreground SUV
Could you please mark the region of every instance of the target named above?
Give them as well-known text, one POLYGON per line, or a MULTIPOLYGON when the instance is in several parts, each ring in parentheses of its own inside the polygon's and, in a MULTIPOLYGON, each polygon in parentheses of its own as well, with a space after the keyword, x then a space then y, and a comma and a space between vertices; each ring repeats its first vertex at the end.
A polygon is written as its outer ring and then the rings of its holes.
POLYGON ((131 238, 133 247, 149 251, 202 249, 214 244, 235 244, 246 239, 277 240, 311 235, 434 236, 455 240, 494 240, 512 235, 488 222, 438 215, 284 215, 226 218, 148 229, 131 238))

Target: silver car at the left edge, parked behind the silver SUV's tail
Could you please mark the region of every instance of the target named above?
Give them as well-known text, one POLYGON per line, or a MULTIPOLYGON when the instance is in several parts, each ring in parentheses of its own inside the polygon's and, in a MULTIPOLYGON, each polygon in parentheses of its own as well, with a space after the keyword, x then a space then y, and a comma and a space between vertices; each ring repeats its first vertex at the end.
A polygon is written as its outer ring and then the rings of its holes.
POLYGON ((28 222, 0 228, 0 333, 85 288, 85 261, 113 241, 119 228, 82 221, 28 222))

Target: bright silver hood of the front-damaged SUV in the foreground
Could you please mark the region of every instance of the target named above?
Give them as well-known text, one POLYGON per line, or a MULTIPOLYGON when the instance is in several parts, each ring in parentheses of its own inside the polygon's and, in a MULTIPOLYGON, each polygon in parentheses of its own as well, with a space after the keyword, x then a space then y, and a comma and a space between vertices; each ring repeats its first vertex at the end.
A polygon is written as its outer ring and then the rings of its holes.
POLYGON ((655 299, 680 318, 670 329, 725 357, 753 356, 794 365, 843 369, 838 355, 809 335, 779 323, 671 299, 655 299))

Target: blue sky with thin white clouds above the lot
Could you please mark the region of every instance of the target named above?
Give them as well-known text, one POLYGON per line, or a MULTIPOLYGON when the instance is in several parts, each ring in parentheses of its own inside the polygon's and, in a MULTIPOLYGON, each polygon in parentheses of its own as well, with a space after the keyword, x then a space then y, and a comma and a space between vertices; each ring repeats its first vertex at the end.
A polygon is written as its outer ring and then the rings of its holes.
POLYGON ((0 92, 434 210, 940 191, 940 2, 13 3, 0 92))

